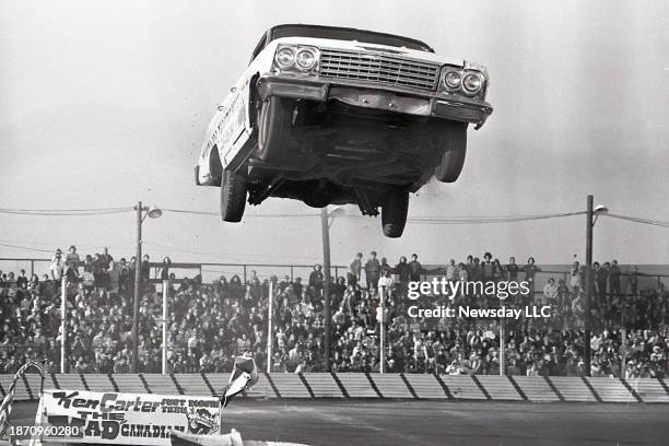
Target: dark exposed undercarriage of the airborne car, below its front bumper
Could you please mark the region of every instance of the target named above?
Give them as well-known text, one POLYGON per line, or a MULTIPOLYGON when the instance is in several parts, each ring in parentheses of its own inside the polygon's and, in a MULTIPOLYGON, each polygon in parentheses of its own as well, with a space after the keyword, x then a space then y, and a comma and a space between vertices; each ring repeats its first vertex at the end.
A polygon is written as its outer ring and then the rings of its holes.
POLYGON ((315 208, 355 203, 363 214, 376 215, 388 193, 414 191, 430 179, 447 148, 445 132, 467 128, 337 99, 274 101, 273 119, 285 127, 268 129, 260 111, 258 138, 263 141, 248 166, 251 204, 268 197, 315 208))

